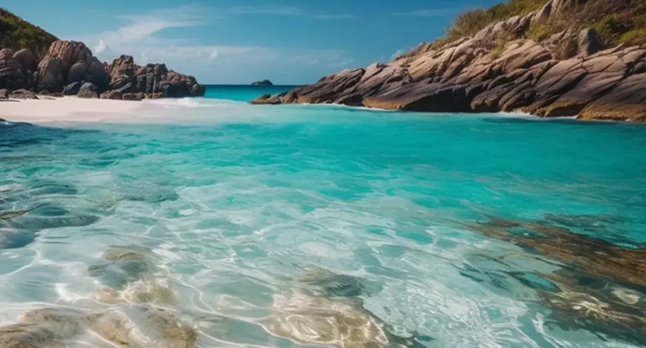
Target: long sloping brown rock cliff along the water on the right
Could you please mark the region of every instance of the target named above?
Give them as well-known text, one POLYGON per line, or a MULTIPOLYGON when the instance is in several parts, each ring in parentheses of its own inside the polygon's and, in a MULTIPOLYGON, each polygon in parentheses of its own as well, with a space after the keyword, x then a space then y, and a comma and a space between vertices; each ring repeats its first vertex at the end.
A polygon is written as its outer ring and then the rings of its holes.
POLYGON ((253 103, 521 111, 542 117, 646 122, 646 45, 609 45, 594 28, 572 33, 574 26, 547 38, 528 35, 556 18, 567 23, 567 17, 585 3, 548 1, 538 10, 491 23, 471 36, 443 45, 424 43, 391 63, 344 70, 253 103))

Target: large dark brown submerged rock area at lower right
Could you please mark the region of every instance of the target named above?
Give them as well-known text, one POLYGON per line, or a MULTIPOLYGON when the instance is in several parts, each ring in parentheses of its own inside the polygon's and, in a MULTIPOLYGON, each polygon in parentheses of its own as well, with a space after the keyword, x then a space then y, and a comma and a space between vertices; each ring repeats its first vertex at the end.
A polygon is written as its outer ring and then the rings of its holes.
POLYGON ((461 273, 504 290, 512 288, 511 279, 534 289, 537 303, 552 310, 549 325, 565 330, 584 329, 604 340, 616 338, 643 345, 646 246, 636 243, 631 247, 619 246, 570 229, 593 230, 598 234, 603 228, 621 222, 624 220, 620 217, 610 215, 546 215, 542 221, 489 217, 486 222, 468 223, 470 229, 520 246, 527 254, 498 257, 495 262, 501 265, 499 270, 465 266, 461 273), (512 257, 541 256, 556 261, 560 269, 551 273, 516 272, 505 263, 512 257))

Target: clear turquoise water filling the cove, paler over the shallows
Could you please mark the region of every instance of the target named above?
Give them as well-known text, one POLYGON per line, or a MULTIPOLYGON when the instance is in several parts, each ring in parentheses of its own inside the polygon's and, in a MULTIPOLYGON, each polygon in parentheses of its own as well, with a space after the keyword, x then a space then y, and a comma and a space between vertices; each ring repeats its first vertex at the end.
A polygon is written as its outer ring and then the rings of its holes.
POLYGON ((161 306, 194 322, 200 347, 313 347, 265 329, 280 303, 301 303, 293 279, 311 266, 362 279, 356 310, 427 347, 630 346, 554 323, 510 274, 562 266, 491 261, 532 252, 463 223, 612 216, 578 232, 646 243, 643 125, 159 105, 138 111, 155 124, 0 126, 0 210, 38 207, 0 221, 0 323, 50 305, 123 310, 96 303, 127 288, 96 270, 110 246, 138 245, 176 294, 161 306))

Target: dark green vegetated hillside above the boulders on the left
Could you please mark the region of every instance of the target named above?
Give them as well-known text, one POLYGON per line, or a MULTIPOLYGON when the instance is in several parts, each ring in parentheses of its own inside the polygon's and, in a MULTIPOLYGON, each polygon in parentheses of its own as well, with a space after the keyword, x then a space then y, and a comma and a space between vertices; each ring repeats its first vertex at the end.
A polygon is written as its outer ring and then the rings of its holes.
POLYGON ((57 39, 42 28, 0 8, 0 48, 31 49, 42 56, 49 49, 49 45, 57 39))

